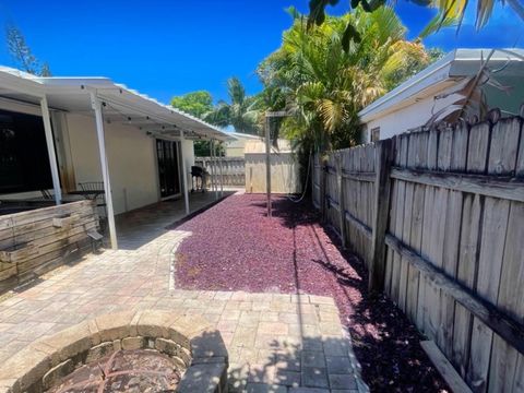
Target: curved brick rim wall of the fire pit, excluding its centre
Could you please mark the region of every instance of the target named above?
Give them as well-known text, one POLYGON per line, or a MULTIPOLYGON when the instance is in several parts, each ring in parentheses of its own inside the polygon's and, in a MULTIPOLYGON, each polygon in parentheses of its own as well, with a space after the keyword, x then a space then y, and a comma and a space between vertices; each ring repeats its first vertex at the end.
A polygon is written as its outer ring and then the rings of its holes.
POLYGON ((43 392, 85 364, 140 348, 166 354, 186 369, 179 393, 226 391, 228 356, 221 334, 204 319, 150 310, 104 314, 31 344, 0 366, 0 392, 43 392))

